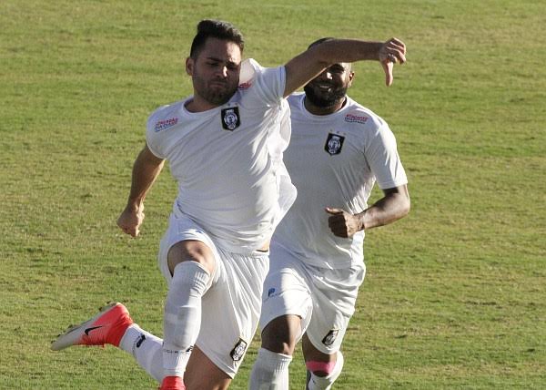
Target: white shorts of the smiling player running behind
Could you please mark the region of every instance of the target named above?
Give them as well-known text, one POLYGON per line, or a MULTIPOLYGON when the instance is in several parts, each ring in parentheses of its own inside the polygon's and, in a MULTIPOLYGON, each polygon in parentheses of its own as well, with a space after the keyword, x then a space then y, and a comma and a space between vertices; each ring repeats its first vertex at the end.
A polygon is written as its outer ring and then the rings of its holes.
POLYGON ((307 333, 320 352, 339 351, 364 281, 364 263, 337 270, 319 268, 300 262, 291 251, 273 243, 269 267, 260 328, 281 315, 298 315, 301 328, 297 341, 307 333))

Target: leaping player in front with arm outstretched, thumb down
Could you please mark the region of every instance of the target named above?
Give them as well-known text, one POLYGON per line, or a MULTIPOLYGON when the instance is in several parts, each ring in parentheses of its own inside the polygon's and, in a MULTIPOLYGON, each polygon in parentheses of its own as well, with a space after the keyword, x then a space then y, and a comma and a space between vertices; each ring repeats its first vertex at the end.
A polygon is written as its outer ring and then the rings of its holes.
POLYGON ((186 60, 192 96, 158 108, 133 166, 117 224, 131 236, 165 161, 178 183, 158 263, 168 292, 161 340, 121 303, 60 335, 52 348, 115 345, 132 354, 162 390, 225 389, 258 327, 269 241, 296 197, 282 154, 290 134, 286 97, 339 61, 379 60, 392 81, 405 61, 397 39, 335 40, 285 66, 242 61, 232 25, 201 21, 186 60))

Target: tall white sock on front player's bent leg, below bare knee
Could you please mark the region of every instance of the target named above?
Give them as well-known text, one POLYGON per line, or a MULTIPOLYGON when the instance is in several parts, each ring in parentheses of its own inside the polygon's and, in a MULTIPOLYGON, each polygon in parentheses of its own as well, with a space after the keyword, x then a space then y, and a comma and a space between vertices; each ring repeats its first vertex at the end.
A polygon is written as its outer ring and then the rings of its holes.
POLYGON ((165 376, 182 376, 201 328, 201 298, 210 274, 198 262, 175 267, 167 293, 163 322, 163 369, 165 376))

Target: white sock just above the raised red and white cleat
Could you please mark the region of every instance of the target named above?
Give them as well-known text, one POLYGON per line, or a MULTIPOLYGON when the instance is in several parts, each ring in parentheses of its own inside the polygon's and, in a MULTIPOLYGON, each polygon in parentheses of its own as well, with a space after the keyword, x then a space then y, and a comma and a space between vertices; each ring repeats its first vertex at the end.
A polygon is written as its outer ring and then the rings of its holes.
POLYGON ((163 380, 163 340, 142 330, 136 323, 130 325, 119 342, 119 348, 135 357, 136 362, 153 376, 157 382, 163 380))

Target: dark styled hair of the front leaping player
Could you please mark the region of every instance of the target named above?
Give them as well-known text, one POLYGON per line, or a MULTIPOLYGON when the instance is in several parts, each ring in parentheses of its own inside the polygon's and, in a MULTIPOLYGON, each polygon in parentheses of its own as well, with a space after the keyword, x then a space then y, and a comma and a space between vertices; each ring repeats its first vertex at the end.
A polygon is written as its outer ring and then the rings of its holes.
POLYGON ((245 40, 236 26, 222 20, 201 20, 197 24, 197 35, 191 43, 189 56, 196 58, 199 51, 205 46, 207 38, 223 39, 235 43, 243 51, 245 40))

